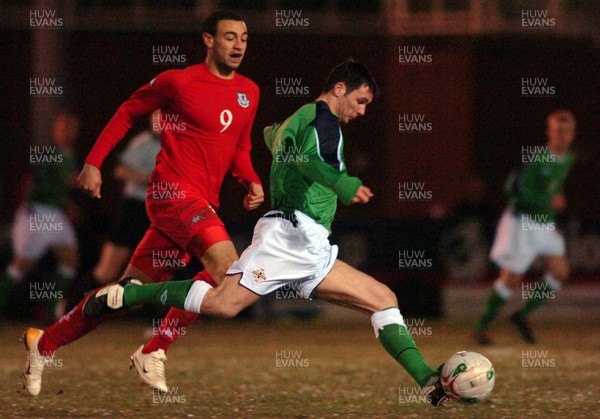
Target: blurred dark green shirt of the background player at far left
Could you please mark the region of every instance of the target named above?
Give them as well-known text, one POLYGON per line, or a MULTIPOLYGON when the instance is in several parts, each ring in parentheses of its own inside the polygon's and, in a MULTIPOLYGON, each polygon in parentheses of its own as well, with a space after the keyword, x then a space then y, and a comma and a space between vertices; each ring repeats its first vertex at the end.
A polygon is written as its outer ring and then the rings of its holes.
POLYGON ((68 179, 75 171, 73 153, 58 147, 51 152, 38 156, 32 166, 33 179, 27 191, 27 203, 44 204, 64 209, 69 194, 68 179))

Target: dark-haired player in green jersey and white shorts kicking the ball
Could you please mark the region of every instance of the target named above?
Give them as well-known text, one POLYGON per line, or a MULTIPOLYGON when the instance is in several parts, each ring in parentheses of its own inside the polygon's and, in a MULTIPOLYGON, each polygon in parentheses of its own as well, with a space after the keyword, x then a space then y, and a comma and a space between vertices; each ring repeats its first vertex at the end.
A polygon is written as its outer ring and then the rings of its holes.
POLYGON ((281 125, 265 129, 265 142, 273 155, 273 210, 258 221, 252 244, 221 285, 213 288, 203 281, 117 284, 88 300, 86 316, 154 303, 230 318, 260 296, 288 285, 302 298, 320 298, 370 315, 385 350, 434 406, 442 405, 447 396, 439 371, 423 360, 395 294, 337 260, 338 248, 328 239, 338 198, 350 205, 366 204, 373 196, 360 179, 347 173, 340 125, 364 115, 376 92, 375 81, 363 64, 344 62, 329 74, 315 102, 301 107, 281 125))

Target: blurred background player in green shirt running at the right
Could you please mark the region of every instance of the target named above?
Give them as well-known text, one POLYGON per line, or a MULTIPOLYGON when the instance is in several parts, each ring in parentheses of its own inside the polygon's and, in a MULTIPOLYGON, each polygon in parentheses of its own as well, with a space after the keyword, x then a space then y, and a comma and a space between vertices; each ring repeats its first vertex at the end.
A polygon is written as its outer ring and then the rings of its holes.
MULTIPOLYGON (((575 156, 569 150, 575 138, 576 120, 567 110, 557 110, 546 119, 546 147, 523 154, 526 162, 507 183, 509 203, 498 224, 491 259, 500 267, 485 310, 475 326, 473 338, 482 345, 492 343, 487 330, 510 299, 512 289, 523 281, 523 274, 536 257, 543 256, 546 273, 543 281, 524 289, 524 306, 510 316, 522 337, 536 339, 528 316, 548 302, 569 275, 565 242, 556 230, 555 217, 566 207, 563 186, 575 156)), ((530 147, 526 147, 530 149, 530 147)))

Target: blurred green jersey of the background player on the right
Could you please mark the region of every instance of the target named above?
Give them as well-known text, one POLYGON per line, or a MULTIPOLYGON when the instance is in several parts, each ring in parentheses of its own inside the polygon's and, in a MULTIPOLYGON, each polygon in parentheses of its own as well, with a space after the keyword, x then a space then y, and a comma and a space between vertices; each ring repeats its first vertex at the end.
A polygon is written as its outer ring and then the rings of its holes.
POLYGON ((509 206, 515 212, 536 217, 540 222, 551 222, 556 217, 551 198, 562 193, 569 170, 575 163, 575 155, 569 151, 558 158, 544 147, 528 160, 528 164, 509 178, 509 206))

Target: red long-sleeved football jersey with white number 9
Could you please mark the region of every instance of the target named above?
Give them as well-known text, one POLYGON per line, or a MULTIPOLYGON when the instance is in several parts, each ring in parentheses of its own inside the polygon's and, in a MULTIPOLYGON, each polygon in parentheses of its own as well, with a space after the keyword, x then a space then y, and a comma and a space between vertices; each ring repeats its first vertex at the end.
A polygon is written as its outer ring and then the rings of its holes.
POLYGON ((206 64, 168 70, 137 90, 106 125, 86 163, 100 168, 114 146, 142 116, 161 109, 161 150, 150 178, 178 182, 215 208, 225 173, 248 185, 260 183, 250 161, 250 132, 258 86, 246 77, 215 76, 206 64))

